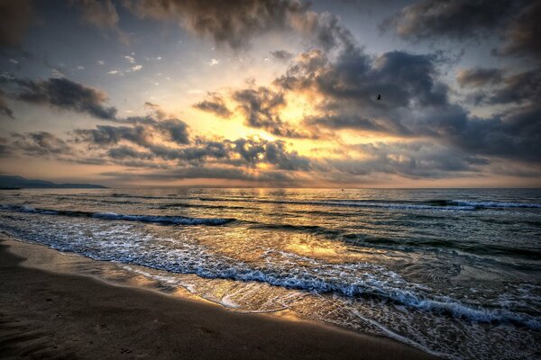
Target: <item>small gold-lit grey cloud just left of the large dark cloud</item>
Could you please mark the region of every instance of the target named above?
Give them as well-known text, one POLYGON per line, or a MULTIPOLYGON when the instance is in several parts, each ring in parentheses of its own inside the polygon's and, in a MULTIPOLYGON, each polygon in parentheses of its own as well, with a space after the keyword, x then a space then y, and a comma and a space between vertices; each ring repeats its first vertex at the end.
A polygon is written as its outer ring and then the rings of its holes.
POLYGON ((296 130, 287 121, 280 119, 280 109, 286 105, 284 94, 274 92, 268 87, 237 90, 233 100, 245 117, 245 125, 269 131, 286 138, 311 138, 304 131, 296 130))

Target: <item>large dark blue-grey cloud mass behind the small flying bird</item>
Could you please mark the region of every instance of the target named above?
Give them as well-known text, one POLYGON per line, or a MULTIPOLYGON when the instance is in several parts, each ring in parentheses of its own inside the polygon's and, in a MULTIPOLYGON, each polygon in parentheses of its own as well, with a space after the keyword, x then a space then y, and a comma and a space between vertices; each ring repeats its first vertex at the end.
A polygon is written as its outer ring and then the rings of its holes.
POLYGON ((371 58, 359 49, 344 51, 332 60, 322 51, 311 50, 275 85, 324 99, 316 103, 319 114, 308 117, 307 125, 410 136, 428 131, 411 119, 418 109, 447 104, 448 89, 438 81, 434 61, 431 55, 403 51, 371 58), (378 94, 382 100, 377 100, 378 94))

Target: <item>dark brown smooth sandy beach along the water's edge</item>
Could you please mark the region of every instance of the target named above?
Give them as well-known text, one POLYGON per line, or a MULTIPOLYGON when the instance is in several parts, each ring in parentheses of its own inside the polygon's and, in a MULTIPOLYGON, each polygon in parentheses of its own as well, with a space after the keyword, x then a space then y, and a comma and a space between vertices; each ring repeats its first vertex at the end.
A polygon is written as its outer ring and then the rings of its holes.
POLYGON ((26 266, 11 241, 0 237, 5 358, 436 358, 390 338, 26 266))

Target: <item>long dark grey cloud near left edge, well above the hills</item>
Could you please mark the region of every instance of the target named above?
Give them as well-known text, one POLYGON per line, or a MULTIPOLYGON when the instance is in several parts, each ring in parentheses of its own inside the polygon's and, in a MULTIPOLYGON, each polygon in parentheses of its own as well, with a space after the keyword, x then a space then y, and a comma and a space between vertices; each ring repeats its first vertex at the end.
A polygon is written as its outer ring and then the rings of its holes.
POLYGON ((45 103, 64 110, 87 112, 104 120, 115 120, 116 108, 105 107, 105 93, 67 78, 51 77, 47 80, 3 78, 4 83, 15 85, 10 96, 27 103, 45 103))

